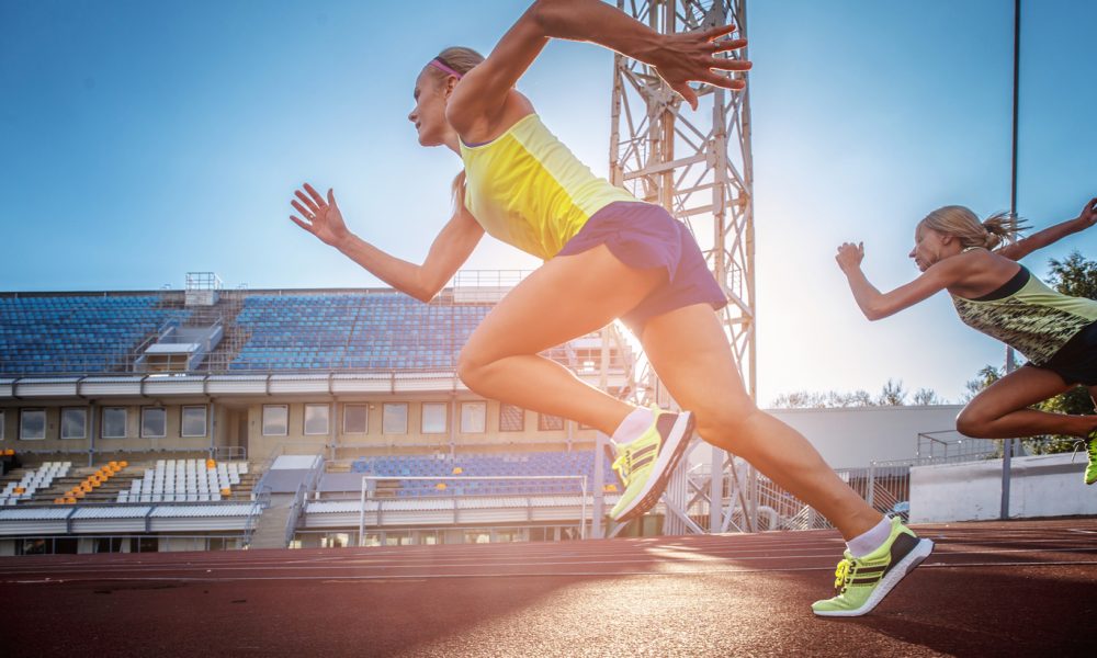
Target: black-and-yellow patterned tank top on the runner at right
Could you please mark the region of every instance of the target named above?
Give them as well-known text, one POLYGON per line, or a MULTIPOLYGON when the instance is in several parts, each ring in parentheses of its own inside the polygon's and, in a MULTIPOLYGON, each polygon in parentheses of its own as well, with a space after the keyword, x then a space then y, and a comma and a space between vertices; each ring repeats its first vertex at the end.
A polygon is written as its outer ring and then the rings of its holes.
POLYGON ((965 325, 1014 348, 1033 365, 1047 363, 1097 321, 1097 300, 1053 291, 1024 266, 993 293, 977 299, 952 295, 952 304, 965 325))

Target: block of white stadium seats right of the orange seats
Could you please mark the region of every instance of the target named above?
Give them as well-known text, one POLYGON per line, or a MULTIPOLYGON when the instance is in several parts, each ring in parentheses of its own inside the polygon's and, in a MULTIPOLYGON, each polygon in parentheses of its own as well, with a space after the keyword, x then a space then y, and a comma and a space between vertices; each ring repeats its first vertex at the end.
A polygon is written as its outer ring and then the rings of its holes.
POLYGON ((159 460, 146 468, 128 491, 118 491, 118 502, 210 502, 231 496, 248 472, 247 462, 213 460, 159 460))

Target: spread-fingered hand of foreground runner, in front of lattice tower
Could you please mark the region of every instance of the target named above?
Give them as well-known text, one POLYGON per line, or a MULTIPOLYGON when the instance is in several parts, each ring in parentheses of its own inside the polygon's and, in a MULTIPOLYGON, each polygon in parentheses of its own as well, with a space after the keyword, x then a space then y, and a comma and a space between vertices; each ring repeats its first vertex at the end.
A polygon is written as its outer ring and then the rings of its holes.
POLYGON ((667 81, 670 89, 681 94, 690 107, 697 110, 697 91, 690 87, 691 81, 704 82, 724 89, 746 87, 745 80, 721 73, 723 71, 749 70, 750 63, 716 57, 717 53, 738 50, 747 45, 745 38, 720 38, 735 32, 735 25, 720 25, 701 32, 668 34, 656 52, 645 60, 655 67, 659 77, 667 81))

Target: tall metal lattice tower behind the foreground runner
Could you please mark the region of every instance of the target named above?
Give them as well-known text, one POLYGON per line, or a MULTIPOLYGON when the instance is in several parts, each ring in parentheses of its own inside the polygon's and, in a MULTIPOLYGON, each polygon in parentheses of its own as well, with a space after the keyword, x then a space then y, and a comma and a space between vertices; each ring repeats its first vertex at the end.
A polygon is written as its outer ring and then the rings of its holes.
MULTIPOLYGON (((660 33, 706 30, 734 22, 746 37, 746 0, 618 0, 618 8, 660 33)), ((746 52, 727 54, 746 58, 746 52)), ((722 311, 744 385, 756 395, 754 202, 749 88, 704 86, 690 111, 647 65, 614 57, 610 134, 610 178, 638 198, 658 203, 693 231, 716 281, 730 300, 722 311), (686 109, 682 112, 682 107, 686 109)), ((667 394, 646 372, 656 401, 667 394)), ((710 450, 708 444, 704 450, 710 450)), ((694 445, 693 450, 698 450, 694 445)), ((671 478, 664 500, 667 534, 750 531, 753 469, 711 447, 711 474, 687 473, 689 460, 671 478), (725 488, 725 484, 730 484, 725 488), (710 503, 711 501, 711 503, 710 503), (705 509, 706 508, 706 509, 705 509), (699 522, 699 510, 709 521, 699 522), (706 526, 705 526, 706 525, 706 526)))

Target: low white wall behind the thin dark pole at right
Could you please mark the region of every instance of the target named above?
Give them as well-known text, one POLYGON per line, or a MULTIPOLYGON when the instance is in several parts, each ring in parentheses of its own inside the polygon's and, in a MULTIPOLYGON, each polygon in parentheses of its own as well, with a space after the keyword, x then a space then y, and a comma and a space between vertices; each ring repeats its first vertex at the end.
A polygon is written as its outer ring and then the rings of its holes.
MULTIPOLYGON (((1009 517, 1097 514, 1097 486, 1086 486, 1084 454, 1015 457, 1009 517)), ((911 469, 911 522, 997 519, 1002 508, 1002 460, 916 466, 911 469)))

